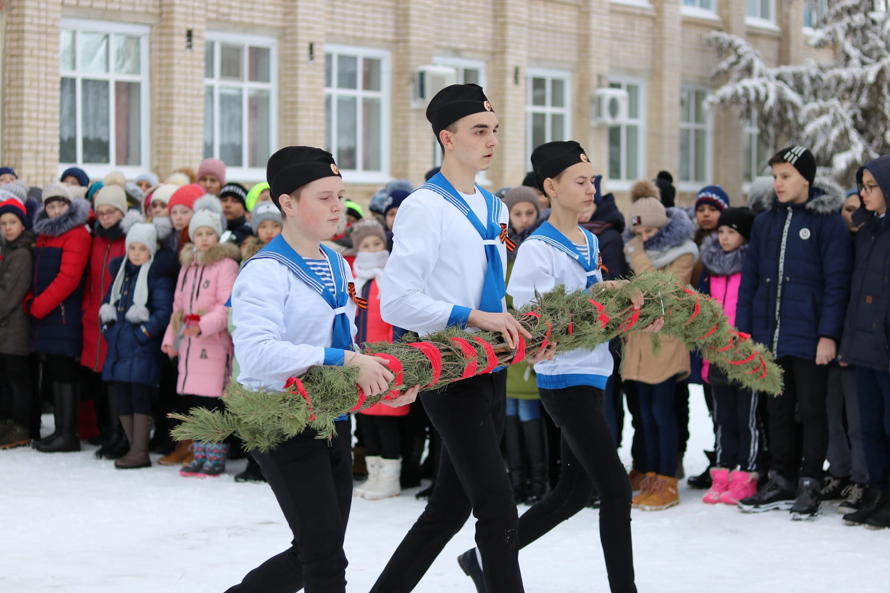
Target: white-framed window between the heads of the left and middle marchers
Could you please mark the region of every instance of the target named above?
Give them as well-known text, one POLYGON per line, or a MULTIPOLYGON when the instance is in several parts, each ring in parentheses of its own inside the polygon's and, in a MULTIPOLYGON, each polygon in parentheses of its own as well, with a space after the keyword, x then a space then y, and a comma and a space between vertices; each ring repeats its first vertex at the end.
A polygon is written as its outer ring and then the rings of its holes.
POLYGON ((390 52, 325 44, 325 143, 343 178, 389 179, 390 52))

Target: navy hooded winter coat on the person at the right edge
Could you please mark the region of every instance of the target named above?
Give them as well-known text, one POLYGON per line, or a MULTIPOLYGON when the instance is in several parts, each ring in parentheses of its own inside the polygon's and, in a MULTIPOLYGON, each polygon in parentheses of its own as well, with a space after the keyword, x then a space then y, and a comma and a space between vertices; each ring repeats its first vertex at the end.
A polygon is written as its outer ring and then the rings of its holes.
MULTIPOLYGON (((865 164, 856 173, 862 187, 862 171, 868 169, 890 199, 890 156, 865 164)), ((860 196, 862 204, 862 196, 860 196)), ((856 233, 856 262, 850 284, 844 339, 838 359, 887 372, 890 368, 890 224, 861 205, 853 221, 864 223, 856 233)))

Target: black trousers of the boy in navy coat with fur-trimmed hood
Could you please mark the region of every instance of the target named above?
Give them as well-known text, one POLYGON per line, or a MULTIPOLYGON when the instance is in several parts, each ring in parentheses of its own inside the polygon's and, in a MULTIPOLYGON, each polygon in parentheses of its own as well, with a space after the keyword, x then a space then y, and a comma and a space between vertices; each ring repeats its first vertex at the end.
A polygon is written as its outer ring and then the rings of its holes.
POLYGON ((789 480, 798 475, 821 480, 829 448, 829 367, 797 357, 781 357, 777 362, 784 371, 785 391, 766 398, 772 469, 789 480), (802 454, 798 453, 796 410, 803 430, 802 454))

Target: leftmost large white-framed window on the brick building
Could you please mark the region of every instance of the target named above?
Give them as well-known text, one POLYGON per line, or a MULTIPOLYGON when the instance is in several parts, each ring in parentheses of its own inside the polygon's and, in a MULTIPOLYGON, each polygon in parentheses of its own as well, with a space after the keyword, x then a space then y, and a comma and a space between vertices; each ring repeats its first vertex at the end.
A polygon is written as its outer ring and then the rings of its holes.
POLYGON ((148 27, 62 19, 59 172, 92 179, 149 169, 148 27))

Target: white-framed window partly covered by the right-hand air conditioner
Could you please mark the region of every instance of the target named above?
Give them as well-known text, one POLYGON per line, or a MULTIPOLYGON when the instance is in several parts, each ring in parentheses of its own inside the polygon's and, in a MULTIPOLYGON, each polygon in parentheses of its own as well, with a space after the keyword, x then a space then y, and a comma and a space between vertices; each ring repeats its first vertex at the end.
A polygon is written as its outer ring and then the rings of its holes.
POLYGON ((609 86, 627 91, 627 123, 609 127, 609 188, 623 191, 645 171, 646 83, 641 78, 611 77, 609 86))

